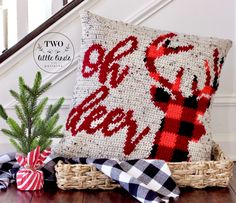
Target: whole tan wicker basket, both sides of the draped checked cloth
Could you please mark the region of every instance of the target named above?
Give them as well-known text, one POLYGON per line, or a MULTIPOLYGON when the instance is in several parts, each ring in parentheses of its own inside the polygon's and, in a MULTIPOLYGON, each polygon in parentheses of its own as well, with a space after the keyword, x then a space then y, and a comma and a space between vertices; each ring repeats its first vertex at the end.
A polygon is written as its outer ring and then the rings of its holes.
MULTIPOLYGON (((169 162, 172 177, 180 187, 204 188, 208 186, 227 187, 232 177, 233 162, 227 158, 219 145, 212 150, 213 161, 169 162)), ((57 185, 68 189, 104 189, 119 187, 92 165, 64 164, 59 161, 55 166, 57 185)))

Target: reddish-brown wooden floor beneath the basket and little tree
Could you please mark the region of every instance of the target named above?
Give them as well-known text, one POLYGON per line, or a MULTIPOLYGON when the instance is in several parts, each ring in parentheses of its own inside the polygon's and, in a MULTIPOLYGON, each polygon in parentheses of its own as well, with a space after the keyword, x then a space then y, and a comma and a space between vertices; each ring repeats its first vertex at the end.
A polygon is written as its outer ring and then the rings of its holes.
MULTIPOLYGON (((53 184, 45 185, 42 191, 21 192, 11 185, 0 192, 0 203, 137 203, 126 191, 62 191, 53 184)), ((228 188, 207 188, 197 190, 182 188, 180 198, 174 203, 236 203, 236 165, 234 177, 228 188)))

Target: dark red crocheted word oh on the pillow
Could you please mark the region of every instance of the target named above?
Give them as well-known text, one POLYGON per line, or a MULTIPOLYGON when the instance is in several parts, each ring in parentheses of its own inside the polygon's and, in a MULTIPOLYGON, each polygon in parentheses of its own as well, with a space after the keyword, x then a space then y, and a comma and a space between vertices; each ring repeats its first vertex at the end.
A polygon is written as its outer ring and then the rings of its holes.
POLYGON ((108 52, 107 55, 105 55, 105 49, 102 45, 93 44, 84 55, 82 66, 83 77, 91 77, 99 70, 99 82, 105 84, 108 79, 108 75, 111 74, 109 84, 112 88, 116 88, 124 80, 129 71, 128 65, 119 70, 120 65, 117 62, 128 54, 133 53, 133 51, 137 49, 137 46, 137 38, 134 36, 129 36, 125 40, 120 41, 111 51, 108 52), (126 46, 129 47, 126 48, 126 46), (119 51, 121 53, 119 53, 119 51), (97 52, 98 57, 96 62, 92 63, 90 61, 90 57, 94 52, 97 52))

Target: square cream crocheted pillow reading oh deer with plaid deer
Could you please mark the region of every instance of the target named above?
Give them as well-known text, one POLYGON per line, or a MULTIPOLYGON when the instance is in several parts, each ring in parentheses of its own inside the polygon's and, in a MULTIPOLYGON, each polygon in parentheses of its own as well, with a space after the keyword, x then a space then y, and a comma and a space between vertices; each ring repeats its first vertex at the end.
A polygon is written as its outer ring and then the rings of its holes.
POLYGON ((67 157, 208 160, 210 104, 231 41, 82 12, 67 157))

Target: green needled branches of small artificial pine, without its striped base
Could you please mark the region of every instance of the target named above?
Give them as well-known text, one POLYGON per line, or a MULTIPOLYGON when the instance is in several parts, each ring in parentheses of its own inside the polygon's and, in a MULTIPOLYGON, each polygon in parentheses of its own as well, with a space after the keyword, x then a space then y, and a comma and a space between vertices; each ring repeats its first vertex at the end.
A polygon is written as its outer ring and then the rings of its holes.
POLYGON ((37 146, 40 146, 43 151, 51 145, 51 138, 63 136, 62 125, 57 125, 57 122, 59 120, 58 110, 61 108, 64 98, 60 98, 54 105, 49 105, 43 117, 42 113, 48 98, 43 98, 40 102, 38 99, 49 89, 51 83, 44 85, 41 83, 41 73, 37 72, 32 88, 25 84, 22 77, 19 77, 19 93, 10 90, 11 95, 17 100, 15 112, 20 123, 9 117, 3 106, 0 105, 0 117, 6 120, 10 128, 1 129, 1 131, 10 137, 10 142, 16 150, 24 155, 37 146))

